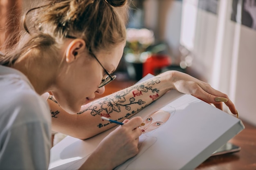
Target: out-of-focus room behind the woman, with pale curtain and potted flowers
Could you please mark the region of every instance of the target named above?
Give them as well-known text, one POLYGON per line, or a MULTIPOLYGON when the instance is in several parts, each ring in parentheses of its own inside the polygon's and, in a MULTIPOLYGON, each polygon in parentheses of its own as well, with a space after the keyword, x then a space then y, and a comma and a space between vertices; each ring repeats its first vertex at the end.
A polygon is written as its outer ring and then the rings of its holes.
MULTIPOLYGON (((0 0, 0 51, 16 42, 20 15, 36 2, 0 0)), ((132 0, 127 44, 115 74, 120 81, 137 81, 167 70, 188 73, 228 94, 240 117, 256 126, 255 5, 255 0, 132 0)))

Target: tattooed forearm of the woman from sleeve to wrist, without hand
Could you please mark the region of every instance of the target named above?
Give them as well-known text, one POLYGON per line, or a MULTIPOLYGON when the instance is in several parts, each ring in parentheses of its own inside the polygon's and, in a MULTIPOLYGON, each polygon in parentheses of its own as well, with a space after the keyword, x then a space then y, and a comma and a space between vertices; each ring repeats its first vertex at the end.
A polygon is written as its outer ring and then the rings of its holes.
POLYGON ((172 72, 168 71, 148 81, 131 86, 81 107, 81 112, 71 115, 53 101, 49 101, 52 114, 53 130, 86 139, 115 126, 103 121, 101 116, 124 121, 135 115, 153 101, 173 88, 172 72))

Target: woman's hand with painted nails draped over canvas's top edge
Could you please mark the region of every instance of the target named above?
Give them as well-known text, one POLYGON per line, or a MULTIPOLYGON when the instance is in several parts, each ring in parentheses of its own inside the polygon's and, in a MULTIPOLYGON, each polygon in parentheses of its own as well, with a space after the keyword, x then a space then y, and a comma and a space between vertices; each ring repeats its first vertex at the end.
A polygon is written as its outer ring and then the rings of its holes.
POLYGON ((216 99, 218 99, 216 97, 225 97, 227 98, 227 102, 225 102, 225 104, 229 107, 231 113, 233 113, 234 115, 237 114, 235 105, 233 104, 233 102, 231 102, 226 94, 215 90, 209 84, 202 82, 199 79, 196 79, 195 77, 192 77, 188 74, 178 71, 172 71, 171 74, 173 74, 173 85, 177 91, 193 95, 203 100, 204 102, 214 104, 216 108, 219 108, 221 110, 223 110, 222 102, 216 102, 216 99))

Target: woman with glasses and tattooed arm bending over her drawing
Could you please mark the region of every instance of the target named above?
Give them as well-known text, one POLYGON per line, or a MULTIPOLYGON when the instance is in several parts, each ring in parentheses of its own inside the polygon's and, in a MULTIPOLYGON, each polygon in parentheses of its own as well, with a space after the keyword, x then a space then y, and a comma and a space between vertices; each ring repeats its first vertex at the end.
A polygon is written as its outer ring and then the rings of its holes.
MULTIPOLYGON (((0 55, 2 169, 47 169, 51 130, 86 139, 114 126, 101 115, 125 124, 101 141, 81 169, 113 169, 138 152, 142 119, 126 118, 153 102, 150 96, 160 97, 170 89, 222 109, 227 95, 175 71, 91 102, 115 79, 110 74, 126 42, 126 1, 50 0, 25 15, 31 16, 29 29, 24 20, 27 33, 15 49, 0 55), (48 91, 54 95, 49 105, 40 97, 48 91)), ((226 104, 236 114, 229 99, 226 104)))

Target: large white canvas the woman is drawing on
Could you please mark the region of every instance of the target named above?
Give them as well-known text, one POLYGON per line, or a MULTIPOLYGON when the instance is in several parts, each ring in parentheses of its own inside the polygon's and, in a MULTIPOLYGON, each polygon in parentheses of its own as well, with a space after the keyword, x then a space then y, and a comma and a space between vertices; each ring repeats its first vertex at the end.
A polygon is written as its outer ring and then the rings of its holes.
MULTIPOLYGON (((191 95, 172 90, 135 116, 146 119, 164 106, 169 119, 139 138, 139 154, 115 170, 192 170, 244 129, 240 119, 191 95)), ((66 137, 51 149, 51 170, 76 170, 114 128, 82 141, 66 137)))

